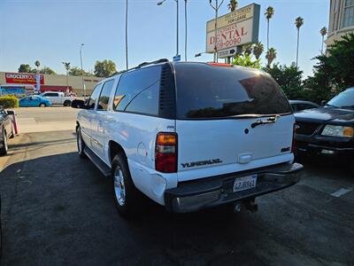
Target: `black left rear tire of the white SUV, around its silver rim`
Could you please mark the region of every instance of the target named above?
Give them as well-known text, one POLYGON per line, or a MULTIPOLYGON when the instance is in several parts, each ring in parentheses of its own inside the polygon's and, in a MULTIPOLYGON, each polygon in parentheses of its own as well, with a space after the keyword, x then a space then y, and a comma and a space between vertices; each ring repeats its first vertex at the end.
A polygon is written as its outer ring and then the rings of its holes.
MULTIPOLYGON (((135 184, 133 183, 132 176, 127 166, 127 158, 124 153, 119 153, 114 156, 112 160, 112 194, 114 204, 117 207, 119 215, 123 217, 132 217, 142 212, 143 196, 142 192, 139 192, 135 184), (116 191, 116 182, 118 182, 117 175, 120 170, 123 179, 124 186, 124 202, 118 198, 116 191)), ((117 187, 118 189, 118 187, 117 187)))

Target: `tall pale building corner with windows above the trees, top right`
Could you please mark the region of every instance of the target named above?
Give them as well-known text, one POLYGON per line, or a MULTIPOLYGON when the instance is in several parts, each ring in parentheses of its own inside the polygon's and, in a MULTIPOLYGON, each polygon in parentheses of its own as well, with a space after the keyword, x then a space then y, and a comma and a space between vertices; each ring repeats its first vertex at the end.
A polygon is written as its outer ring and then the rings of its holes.
POLYGON ((326 44, 335 43, 342 35, 354 33, 354 0, 330 0, 326 44))

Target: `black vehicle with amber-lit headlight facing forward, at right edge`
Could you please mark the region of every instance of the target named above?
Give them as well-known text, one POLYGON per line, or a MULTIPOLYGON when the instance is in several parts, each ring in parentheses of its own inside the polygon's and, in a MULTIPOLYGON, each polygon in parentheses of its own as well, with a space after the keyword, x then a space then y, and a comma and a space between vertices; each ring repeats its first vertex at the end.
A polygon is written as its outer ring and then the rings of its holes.
POLYGON ((296 113, 296 154, 346 161, 354 172, 354 88, 326 106, 296 113))

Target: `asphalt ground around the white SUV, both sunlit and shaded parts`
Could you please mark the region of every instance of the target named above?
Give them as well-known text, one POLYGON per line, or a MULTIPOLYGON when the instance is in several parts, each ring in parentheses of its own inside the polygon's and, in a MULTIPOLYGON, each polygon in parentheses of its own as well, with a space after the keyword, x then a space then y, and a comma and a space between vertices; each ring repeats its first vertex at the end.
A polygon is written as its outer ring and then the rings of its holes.
POLYGON ((150 204, 124 220, 110 180, 76 153, 76 110, 60 108, 70 119, 58 130, 48 123, 60 109, 47 109, 19 114, 46 130, 28 129, 0 158, 3 265, 354 264, 354 177, 346 168, 306 161, 304 179, 259 198, 256 214, 221 207, 172 215, 150 204))

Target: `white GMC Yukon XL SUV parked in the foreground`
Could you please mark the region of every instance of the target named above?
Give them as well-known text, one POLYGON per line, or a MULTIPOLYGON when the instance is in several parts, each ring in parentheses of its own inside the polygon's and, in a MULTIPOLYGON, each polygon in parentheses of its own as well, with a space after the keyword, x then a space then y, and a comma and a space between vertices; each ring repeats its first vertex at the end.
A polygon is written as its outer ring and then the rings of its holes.
POLYGON ((259 70, 166 59, 99 82, 77 118, 81 157, 112 178, 119 213, 142 193, 183 213, 255 198, 300 179, 295 119, 273 78, 259 70))

